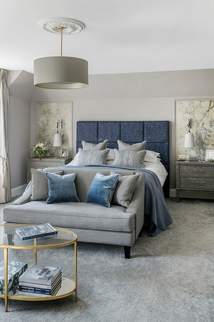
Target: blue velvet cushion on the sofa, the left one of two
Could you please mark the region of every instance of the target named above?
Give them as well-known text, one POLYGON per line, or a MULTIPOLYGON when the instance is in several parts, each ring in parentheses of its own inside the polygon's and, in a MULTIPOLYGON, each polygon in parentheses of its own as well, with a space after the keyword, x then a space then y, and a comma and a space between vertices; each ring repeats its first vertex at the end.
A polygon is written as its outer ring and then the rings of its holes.
POLYGON ((79 202, 76 196, 76 187, 74 180, 76 173, 69 175, 56 175, 46 172, 48 178, 49 198, 46 204, 55 204, 57 202, 79 202))

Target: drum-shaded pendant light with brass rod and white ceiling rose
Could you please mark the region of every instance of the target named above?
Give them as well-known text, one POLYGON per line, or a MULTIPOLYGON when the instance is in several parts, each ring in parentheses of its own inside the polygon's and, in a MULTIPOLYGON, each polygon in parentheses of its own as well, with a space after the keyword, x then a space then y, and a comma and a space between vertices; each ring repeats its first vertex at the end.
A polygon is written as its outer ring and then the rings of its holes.
POLYGON ((61 56, 34 60, 34 86, 49 89, 74 89, 88 86, 88 62, 85 59, 62 56, 62 35, 81 32, 85 25, 70 18, 49 18, 40 27, 50 33, 61 33, 61 56))

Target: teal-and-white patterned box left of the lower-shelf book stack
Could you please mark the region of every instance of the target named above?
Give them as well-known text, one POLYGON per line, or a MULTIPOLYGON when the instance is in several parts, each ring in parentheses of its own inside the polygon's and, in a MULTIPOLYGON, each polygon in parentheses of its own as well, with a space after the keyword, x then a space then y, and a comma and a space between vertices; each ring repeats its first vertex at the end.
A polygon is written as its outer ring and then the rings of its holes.
MULTIPOLYGON (((7 289, 10 290, 19 281, 19 277, 28 268, 28 263, 7 262, 7 289)), ((0 262, 0 289, 4 289, 4 260, 0 262)))

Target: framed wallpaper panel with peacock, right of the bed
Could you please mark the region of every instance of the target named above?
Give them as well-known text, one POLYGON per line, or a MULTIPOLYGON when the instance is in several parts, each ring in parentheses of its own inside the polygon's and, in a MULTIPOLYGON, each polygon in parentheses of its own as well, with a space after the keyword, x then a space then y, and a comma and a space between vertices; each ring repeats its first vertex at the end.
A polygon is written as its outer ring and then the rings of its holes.
POLYGON ((214 150, 214 99, 175 101, 176 159, 179 154, 189 154, 192 160, 205 160, 206 150, 214 150), (185 134, 194 135, 195 147, 183 147, 185 134))

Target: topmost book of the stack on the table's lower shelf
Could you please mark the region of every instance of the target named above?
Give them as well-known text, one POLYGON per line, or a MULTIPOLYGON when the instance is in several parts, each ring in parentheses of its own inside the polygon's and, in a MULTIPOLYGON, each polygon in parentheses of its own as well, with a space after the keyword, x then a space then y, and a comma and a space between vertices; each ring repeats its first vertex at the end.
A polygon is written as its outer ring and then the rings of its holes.
POLYGON ((61 276, 61 268, 31 265, 19 278, 19 282, 53 285, 54 281, 61 276))

